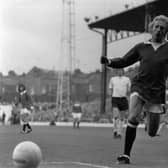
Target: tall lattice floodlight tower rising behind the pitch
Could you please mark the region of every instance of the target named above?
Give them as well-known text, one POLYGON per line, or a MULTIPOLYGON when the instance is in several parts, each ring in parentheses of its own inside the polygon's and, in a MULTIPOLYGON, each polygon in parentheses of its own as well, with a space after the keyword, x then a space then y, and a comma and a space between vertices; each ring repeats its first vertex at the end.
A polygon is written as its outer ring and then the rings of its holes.
POLYGON ((67 65, 64 70, 68 73, 60 72, 57 83, 57 99, 56 106, 59 111, 62 111, 63 103, 68 109, 71 109, 71 90, 72 90, 72 72, 74 70, 74 60, 76 54, 75 44, 75 1, 62 0, 62 28, 61 28, 61 59, 64 60, 62 64, 67 65), (66 64, 65 61, 68 60, 66 64))

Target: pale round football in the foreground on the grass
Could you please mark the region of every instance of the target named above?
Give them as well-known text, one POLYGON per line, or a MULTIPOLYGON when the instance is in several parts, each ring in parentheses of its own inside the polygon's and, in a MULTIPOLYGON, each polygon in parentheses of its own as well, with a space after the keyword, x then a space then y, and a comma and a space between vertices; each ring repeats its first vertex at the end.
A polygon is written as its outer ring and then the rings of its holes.
POLYGON ((17 144, 12 154, 15 168, 37 168, 41 159, 40 147, 31 141, 23 141, 17 144))

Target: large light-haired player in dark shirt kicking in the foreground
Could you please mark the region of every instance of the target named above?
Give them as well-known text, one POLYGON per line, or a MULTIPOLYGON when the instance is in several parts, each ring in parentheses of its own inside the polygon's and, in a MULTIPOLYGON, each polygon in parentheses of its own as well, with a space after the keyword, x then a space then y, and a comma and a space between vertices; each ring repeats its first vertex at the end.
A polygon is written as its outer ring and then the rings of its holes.
POLYGON ((149 24, 151 39, 135 45, 121 58, 101 57, 101 63, 111 68, 124 68, 139 62, 139 71, 132 80, 129 117, 125 135, 124 153, 118 163, 129 164, 130 153, 136 138, 139 116, 143 108, 147 112, 147 132, 156 136, 160 114, 165 104, 168 67, 168 17, 156 16, 149 24))

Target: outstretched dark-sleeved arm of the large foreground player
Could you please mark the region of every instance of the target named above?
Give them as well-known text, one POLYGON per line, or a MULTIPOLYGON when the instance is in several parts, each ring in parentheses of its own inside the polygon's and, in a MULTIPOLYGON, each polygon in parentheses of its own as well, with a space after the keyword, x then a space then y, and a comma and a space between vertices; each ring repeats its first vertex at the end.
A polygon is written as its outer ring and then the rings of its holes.
POLYGON ((105 64, 111 68, 124 68, 124 67, 130 66, 140 60, 138 46, 139 45, 136 45, 135 47, 133 47, 123 57, 109 59, 105 56, 102 56, 100 62, 101 64, 105 64))

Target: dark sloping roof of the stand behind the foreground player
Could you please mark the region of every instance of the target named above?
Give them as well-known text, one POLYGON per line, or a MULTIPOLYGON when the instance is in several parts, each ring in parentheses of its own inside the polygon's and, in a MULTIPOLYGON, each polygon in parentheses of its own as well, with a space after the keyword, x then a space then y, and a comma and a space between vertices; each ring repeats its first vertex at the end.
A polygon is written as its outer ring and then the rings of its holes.
POLYGON ((155 0, 121 13, 89 23, 89 28, 111 29, 116 31, 145 31, 146 12, 151 15, 168 15, 166 0, 155 0))

